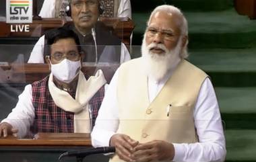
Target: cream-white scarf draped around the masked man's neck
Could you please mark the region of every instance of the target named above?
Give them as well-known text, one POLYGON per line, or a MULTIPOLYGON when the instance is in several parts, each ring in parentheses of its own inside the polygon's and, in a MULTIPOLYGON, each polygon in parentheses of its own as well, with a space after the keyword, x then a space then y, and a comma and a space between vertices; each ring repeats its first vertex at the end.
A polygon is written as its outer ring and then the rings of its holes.
POLYGON ((48 84, 53 101, 59 108, 74 113, 74 132, 91 131, 88 102, 105 83, 106 79, 101 70, 98 70, 96 75, 87 81, 82 71, 79 71, 75 99, 73 99, 67 91, 56 87, 53 83, 53 74, 50 74, 48 84))

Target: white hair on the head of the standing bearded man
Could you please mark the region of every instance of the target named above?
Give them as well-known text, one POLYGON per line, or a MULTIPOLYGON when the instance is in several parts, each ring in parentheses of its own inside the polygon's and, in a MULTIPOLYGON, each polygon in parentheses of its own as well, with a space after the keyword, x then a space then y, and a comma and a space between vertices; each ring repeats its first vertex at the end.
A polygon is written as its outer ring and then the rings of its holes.
MULTIPOLYGON (((173 5, 160 5, 158 7, 156 7, 151 15, 150 15, 150 19, 148 19, 148 26, 150 26, 150 22, 151 22, 151 19, 153 17, 153 15, 155 13, 157 13, 158 11, 165 11, 166 13, 174 13, 176 15, 179 15, 179 17, 181 17, 181 21, 177 22, 177 24, 179 25, 180 29, 181 29, 181 36, 187 36, 188 38, 188 25, 187 25, 187 19, 185 18, 185 16, 183 15, 183 13, 181 12, 180 9, 178 9, 177 7, 174 7, 173 5)), ((189 40, 187 39, 187 42, 185 44, 185 46, 181 49, 181 53, 180 53, 180 56, 181 58, 187 58, 189 56, 188 52, 187 52, 187 44, 189 44, 189 40)))

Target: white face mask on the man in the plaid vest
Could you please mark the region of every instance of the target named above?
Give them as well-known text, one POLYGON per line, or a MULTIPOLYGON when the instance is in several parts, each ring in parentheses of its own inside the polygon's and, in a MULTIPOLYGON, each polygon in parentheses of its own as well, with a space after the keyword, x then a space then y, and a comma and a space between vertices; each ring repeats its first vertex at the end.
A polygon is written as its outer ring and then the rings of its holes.
POLYGON ((51 63, 51 73, 53 73, 53 76, 59 81, 63 81, 64 83, 70 83, 76 77, 80 69, 80 60, 72 61, 65 58, 61 63, 51 63))

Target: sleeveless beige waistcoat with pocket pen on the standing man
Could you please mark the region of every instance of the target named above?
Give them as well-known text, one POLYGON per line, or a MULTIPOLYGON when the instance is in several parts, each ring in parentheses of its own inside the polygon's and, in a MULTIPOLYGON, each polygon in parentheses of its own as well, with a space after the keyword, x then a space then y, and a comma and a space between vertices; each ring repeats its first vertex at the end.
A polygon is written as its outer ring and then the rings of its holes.
MULTIPOLYGON (((207 75, 187 60, 181 60, 150 103, 148 77, 142 70, 142 59, 133 59, 119 69, 117 97, 120 121, 117 132, 127 134, 139 143, 151 140, 196 143, 193 109, 207 75)), ((114 156, 110 161, 121 159, 114 156)))

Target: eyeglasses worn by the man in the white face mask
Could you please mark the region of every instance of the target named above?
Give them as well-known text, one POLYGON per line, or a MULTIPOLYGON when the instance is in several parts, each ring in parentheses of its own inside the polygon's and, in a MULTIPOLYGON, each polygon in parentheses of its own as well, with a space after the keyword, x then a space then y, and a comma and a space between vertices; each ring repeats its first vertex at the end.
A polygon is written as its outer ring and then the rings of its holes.
POLYGON ((70 51, 70 52, 67 52, 67 54, 64 54, 62 52, 55 52, 54 54, 51 54, 51 56, 57 62, 61 62, 61 60, 64 60, 64 58, 67 58, 73 61, 79 60, 80 58, 80 54, 76 51, 70 51))

